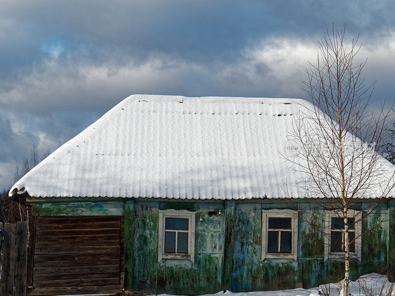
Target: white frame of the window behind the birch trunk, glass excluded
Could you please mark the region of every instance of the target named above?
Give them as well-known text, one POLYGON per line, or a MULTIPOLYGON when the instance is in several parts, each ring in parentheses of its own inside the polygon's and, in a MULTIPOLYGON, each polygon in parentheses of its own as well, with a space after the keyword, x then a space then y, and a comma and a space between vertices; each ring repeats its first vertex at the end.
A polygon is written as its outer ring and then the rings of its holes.
MULTIPOLYGON (((350 258, 355 258, 358 260, 362 259, 362 212, 355 210, 348 210, 349 218, 355 218, 355 252, 350 252, 350 258)), ((344 259, 345 252, 330 252, 331 244, 331 221, 332 217, 341 218, 343 217, 343 212, 340 210, 325 210, 325 235, 324 235, 324 260, 327 259, 344 259)))

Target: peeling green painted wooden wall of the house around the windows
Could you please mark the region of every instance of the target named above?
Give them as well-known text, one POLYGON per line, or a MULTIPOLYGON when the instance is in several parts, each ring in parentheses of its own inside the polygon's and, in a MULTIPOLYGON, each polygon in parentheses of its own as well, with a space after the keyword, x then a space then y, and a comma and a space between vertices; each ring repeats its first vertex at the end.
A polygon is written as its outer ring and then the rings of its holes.
MULTIPOLYGON (((356 208, 367 208, 366 203, 356 208)), ((371 204, 370 204, 371 207, 371 204)), ((34 202, 34 215, 124 215, 125 290, 145 293, 205 294, 221 290, 264 291, 311 288, 344 275, 338 259, 324 262, 324 211, 293 201, 247 203, 125 200, 103 202, 34 202), (195 263, 158 262, 158 210, 196 211, 195 263), (209 217, 221 209, 223 215, 209 217), (261 261, 262 210, 298 210, 298 260, 261 261), (199 217, 203 222, 199 222, 199 217)), ((363 215, 370 210, 367 208, 363 215)), ((362 261, 351 262, 351 278, 388 272, 395 281, 395 200, 380 204, 362 223, 362 261)))

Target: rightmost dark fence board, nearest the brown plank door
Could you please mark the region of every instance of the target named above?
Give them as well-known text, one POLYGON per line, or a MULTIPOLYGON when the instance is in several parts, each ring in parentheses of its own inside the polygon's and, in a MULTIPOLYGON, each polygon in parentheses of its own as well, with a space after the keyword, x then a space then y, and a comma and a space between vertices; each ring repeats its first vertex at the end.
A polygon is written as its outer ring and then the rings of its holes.
POLYGON ((28 222, 16 223, 15 296, 26 296, 28 222))

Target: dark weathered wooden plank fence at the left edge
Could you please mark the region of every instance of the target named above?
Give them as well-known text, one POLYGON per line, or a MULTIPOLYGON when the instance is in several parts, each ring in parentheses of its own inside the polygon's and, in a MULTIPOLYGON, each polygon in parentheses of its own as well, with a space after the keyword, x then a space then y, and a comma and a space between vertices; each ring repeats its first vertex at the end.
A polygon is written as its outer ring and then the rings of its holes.
POLYGON ((28 223, 0 223, 0 295, 26 296, 28 223))

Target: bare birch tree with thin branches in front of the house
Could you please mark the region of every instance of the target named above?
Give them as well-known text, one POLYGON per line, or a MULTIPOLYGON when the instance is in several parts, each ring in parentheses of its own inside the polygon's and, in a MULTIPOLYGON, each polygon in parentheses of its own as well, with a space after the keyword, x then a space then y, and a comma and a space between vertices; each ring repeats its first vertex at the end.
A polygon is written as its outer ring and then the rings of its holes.
MULTIPOLYGON (((351 209, 358 198, 387 197, 395 184, 394 168, 381 156, 392 113, 384 105, 369 111, 373 84, 366 85, 362 77, 367 59, 357 62, 357 41, 347 43, 345 30, 334 28, 320 39, 317 63, 310 64, 304 81, 313 105, 300 107, 290 134, 298 152, 287 157, 301 176, 303 194, 338 215, 331 222, 343 228, 336 239, 344 252, 344 296, 349 294, 350 248, 356 247, 358 238, 355 232, 350 236, 351 230, 378 203, 372 202, 364 212, 351 209)), ((324 233, 333 236, 331 231, 324 233)))

